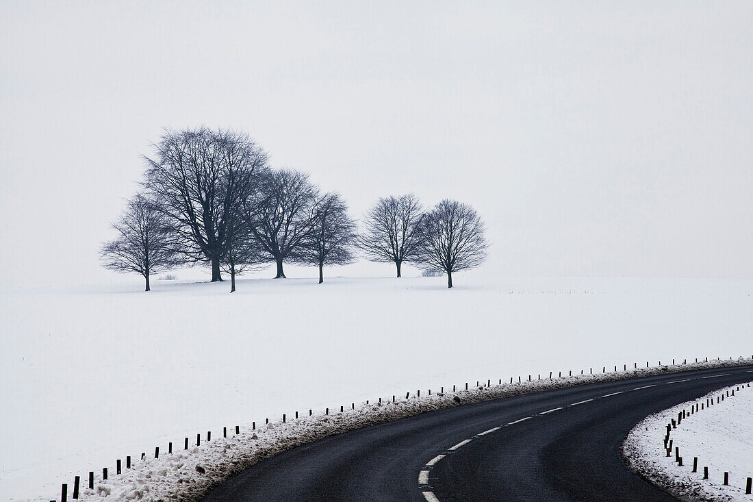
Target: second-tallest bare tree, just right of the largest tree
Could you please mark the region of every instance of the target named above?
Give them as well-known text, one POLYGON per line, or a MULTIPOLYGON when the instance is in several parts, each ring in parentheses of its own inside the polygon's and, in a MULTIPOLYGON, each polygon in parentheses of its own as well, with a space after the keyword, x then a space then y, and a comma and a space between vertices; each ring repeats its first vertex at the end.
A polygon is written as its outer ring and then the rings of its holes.
POLYGON ((319 188, 297 170, 270 170, 261 179, 253 204, 251 228, 255 239, 277 264, 276 279, 284 278, 282 262, 299 259, 311 230, 312 207, 319 188))

